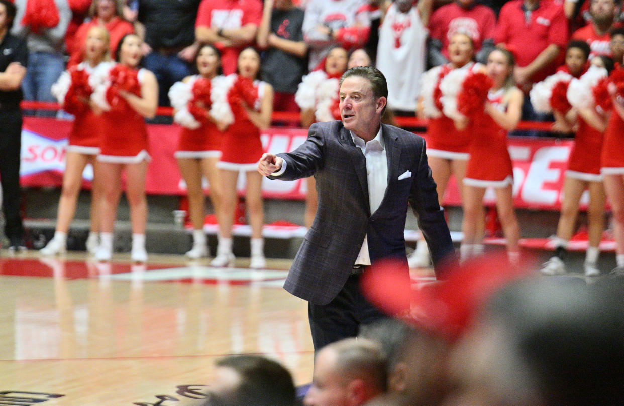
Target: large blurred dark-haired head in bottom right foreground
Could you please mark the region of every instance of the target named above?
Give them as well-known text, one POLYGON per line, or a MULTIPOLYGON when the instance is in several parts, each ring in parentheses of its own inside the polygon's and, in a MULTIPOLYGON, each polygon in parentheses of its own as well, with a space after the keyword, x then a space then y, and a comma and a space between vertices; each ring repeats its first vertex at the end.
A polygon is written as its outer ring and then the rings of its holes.
POLYGON ((456 342, 445 406, 624 404, 623 297, 581 279, 502 288, 456 342))

